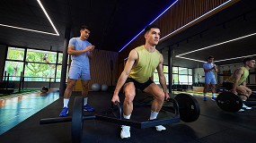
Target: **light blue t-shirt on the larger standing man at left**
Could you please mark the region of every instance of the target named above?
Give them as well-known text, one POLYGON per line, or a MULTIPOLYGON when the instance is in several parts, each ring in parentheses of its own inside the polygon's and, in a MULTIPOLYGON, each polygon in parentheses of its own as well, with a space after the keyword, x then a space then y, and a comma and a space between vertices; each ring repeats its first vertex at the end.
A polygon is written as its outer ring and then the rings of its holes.
MULTIPOLYGON (((90 42, 88 42, 87 40, 84 41, 81 38, 71 38, 69 40, 68 45, 75 46, 75 50, 84 50, 86 46, 92 46, 90 42)), ((72 59, 71 66, 90 69, 88 54, 89 52, 87 51, 81 55, 71 55, 71 59, 72 59)))

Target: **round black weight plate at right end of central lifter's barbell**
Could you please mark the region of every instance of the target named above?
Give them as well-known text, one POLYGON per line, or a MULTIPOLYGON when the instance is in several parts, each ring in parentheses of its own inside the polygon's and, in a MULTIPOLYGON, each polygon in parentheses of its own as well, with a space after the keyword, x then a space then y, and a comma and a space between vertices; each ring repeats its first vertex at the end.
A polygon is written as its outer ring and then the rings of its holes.
POLYGON ((174 99, 178 102, 180 118, 183 122, 194 122, 199 119, 200 106, 198 101, 189 94, 178 94, 174 99))

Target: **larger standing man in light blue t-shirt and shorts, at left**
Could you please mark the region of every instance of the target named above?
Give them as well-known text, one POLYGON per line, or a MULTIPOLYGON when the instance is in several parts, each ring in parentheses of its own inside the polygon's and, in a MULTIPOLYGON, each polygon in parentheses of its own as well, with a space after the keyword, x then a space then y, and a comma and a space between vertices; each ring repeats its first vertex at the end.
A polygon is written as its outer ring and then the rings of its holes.
POLYGON ((63 109, 59 114, 60 117, 66 117, 68 114, 68 102, 75 87, 75 82, 79 78, 82 81, 82 96, 84 97, 84 111, 94 111, 93 107, 87 104, 88 83, 90 77, 89 58, 93 57, 94 46, 87 41, 90 36, 90 29, 83 25, 80 29, 79 38, 71 38, 68 44, 67 54, 71 55, 72 63, 70 65, 66 90, 64 93, 63 109))

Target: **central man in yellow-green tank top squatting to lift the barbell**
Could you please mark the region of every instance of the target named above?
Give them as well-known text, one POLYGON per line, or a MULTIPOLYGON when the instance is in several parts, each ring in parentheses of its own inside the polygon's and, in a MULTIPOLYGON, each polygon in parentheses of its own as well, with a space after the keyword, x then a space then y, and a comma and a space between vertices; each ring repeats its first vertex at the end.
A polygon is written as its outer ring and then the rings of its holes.
MULTIPOLYGON (((169 98, 166 86, 166 80, 163 75, 163 55, 161 55, 155 46, 160 39, 160 29, 152 24, 146 27, 146 44, 138 46, 130 51, 128 61, 122 71, 111 102, 119 101, 119 90, 123 87, 125 99, 123 103, 124 119, 130 119, 133 111, 133 99, 136 96, 136 88, 154 96, 151 106, 149 120, 154 120, 163 106, 163 100, 169 98), (150 78, 154 70, 158 71, 159 82, 162 88, 159 88, 150 78)), ((155 126, 158 131, 166 130, 162 125, 155 126)), ((130 127, 122 125, 120 132, 121 139, 130 138, 130 127)))

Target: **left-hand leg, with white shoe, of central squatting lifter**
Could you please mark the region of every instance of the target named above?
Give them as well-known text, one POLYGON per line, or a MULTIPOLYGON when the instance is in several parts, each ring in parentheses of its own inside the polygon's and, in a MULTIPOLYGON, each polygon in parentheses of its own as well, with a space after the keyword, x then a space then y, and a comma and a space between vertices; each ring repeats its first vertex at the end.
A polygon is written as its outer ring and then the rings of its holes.
MULTIPOLYGON (((135 86, 133 82, 128 82, 124 85, 125 99, 123 103, 123 117, 124 119, 130 119, 131 113, 133 111, 133 99, 135 97, 135 86)), ((121 139, 130 138, 130 127, 122 125, 122 130, 120 132, 121 139)))

